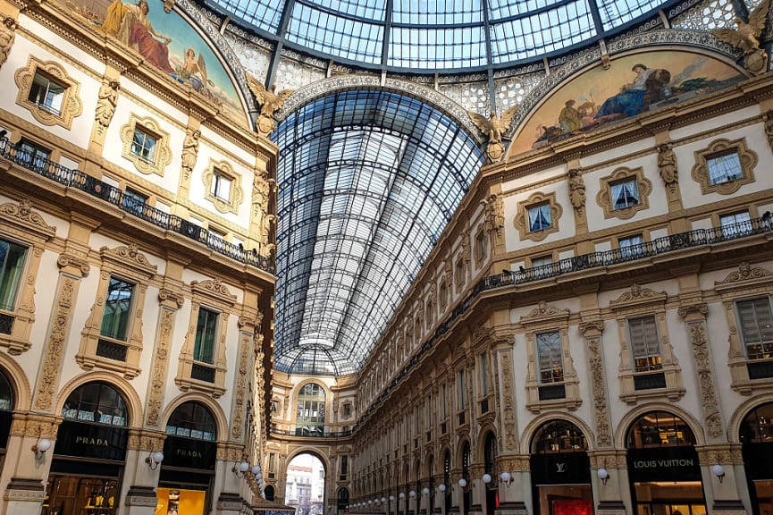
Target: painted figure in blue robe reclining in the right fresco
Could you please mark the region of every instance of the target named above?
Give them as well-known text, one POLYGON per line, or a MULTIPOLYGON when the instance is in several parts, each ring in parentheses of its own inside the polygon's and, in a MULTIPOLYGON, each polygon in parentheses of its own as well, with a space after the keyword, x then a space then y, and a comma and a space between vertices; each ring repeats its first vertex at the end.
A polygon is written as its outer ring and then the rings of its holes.
POLYGON ((651 102, 660 100, 660 90, 671 80, 668 70, 647 68, 642 63, 634 64, 631 71, 636 74, 634 81, 604 101, 596 120, 607 122, 641 113, 651 102))

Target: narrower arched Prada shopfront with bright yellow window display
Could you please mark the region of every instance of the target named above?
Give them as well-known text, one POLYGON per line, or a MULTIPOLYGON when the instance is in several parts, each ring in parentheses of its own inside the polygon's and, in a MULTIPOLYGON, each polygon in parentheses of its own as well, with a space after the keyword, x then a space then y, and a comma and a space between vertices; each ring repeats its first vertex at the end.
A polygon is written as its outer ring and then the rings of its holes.
POLYGON ((164 461, 158 477, 158 502, 163 513, 204 515, 212 506, 217 460, 217 424, 201 402, 178 406, 166 422, 164 461))

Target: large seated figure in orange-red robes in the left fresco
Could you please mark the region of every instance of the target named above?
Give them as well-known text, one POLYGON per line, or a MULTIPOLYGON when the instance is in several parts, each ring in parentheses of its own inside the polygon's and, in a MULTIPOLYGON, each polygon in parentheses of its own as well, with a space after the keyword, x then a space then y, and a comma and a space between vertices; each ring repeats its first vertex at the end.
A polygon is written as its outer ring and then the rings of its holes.
POLYGON ((153 25, 147 18, 149 12, 147 0, 139 0, 139 4, 123 4, 121 0, 114 0, 107 8, 102 28, 107 34, 119 38, 137 50, 149 63, 163 72, 174 73, 169 64, 168 45, 172 39, 153 30, 153 25))

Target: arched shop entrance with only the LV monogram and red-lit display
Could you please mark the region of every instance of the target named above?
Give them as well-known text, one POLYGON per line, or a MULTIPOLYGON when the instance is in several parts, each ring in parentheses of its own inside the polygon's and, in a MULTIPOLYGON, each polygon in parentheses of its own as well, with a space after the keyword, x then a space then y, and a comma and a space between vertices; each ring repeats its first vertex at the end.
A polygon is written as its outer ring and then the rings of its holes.
POLYGON ((550 420, 534 433, 531 450, 534 513, 591 515, 591 460, 583 431, 567 420, 550 420))

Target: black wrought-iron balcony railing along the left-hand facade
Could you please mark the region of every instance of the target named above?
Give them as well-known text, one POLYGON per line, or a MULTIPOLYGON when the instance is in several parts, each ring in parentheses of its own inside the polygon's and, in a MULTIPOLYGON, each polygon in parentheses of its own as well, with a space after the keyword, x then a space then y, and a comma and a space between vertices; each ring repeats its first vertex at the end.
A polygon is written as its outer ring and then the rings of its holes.
POLYGON ((190 240, 198 241, 206 245, 207 248, 223 254, 223 256, 249 266, 256 266, 272 274, 276 271, 273 258, 260 256, 256 249, 248 250, 240 245, 224 241, 223 238, 214 232, 209 232, 205 228, 193 224, 180 216, 170 215, 155 207, 147 206, 147 204, 139 202, 137 198, 125 195, 122 190, 114 188, 110 184, 102 182, 87 173, 71 170, 39 154, 32 154, 23 148, 17 148, 8 139, 0 139, 0 157, 37 173, 41 177, 100 198, 120 208, 123 212, 137 216, 157 227, 177 232, 190 240))

